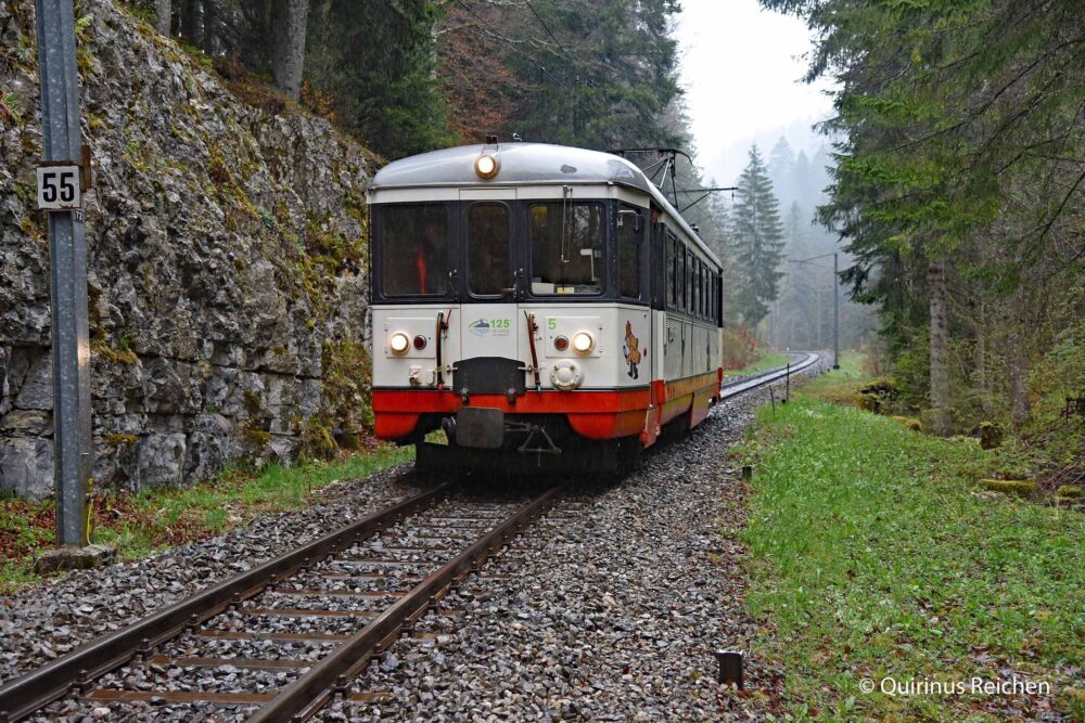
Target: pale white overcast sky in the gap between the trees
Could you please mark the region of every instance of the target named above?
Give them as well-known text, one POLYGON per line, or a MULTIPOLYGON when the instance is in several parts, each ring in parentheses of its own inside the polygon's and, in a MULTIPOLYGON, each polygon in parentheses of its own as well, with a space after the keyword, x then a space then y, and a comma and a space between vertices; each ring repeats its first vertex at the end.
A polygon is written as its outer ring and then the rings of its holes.
POLYGON ((797 153, 825 142, 810 126, 827 118, 829 81, 802 82, 810 34, 802 21, 757 0, 682 0, 676 37, 697 159, 710 179, 732 184, 752 143, 767 156, 786 137, 797 153))

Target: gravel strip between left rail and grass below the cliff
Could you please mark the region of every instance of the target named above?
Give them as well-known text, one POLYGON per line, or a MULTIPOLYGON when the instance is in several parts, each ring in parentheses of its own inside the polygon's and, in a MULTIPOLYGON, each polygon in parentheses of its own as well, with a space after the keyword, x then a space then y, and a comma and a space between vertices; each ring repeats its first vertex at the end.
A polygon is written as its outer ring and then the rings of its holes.
POLYGON ((247 527, 138 563, 73 572, 0 598, 0 684, 82 643, 146 617, 231 574, 289 552, 419 490, 398 466, 326 488, 301 512, 259 515, 247 527))

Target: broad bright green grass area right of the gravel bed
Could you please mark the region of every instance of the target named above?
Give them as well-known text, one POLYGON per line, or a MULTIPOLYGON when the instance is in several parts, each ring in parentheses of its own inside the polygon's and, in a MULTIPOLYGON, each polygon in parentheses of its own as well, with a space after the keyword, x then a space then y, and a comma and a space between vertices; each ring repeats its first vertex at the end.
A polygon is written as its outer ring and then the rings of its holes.
POLYGON ((848 373, 761 410, 740 449, 756 470, 743 533, 746 605, 765 621, 754 656, 783 666, 794 718, 997 720, 998 696, 864 695, 859 682, 1012 667, 1085 720, 1058 673, 1085 663, 1085 514, 980 495, 974 444, 814 396, 848 373))

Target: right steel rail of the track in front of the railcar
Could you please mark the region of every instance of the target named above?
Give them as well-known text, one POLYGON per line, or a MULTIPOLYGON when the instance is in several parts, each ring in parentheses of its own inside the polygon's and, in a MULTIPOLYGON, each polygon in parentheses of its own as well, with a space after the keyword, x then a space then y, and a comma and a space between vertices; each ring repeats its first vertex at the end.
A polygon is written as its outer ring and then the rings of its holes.
POLYGON ((561 490, 561 486, 551 487, 470 547, 430 573, 410 593, 355 633, 349 641, 314 666, 308 673, 280 690, 279 695, 248 719, 248 723, 306 720, 336 694, 345 696, 349 679, 365 670, 375 655, 421 618, 451 590, 454 584, 464 579, 506 541, 514 538, 533 519, 541 515, 553 504, 561 490))

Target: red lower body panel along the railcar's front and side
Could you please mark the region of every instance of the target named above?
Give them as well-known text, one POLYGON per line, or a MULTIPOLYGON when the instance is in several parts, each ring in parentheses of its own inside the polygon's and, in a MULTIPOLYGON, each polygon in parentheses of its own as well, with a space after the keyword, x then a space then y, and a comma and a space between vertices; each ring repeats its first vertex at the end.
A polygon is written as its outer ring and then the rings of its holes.
MULTIPOLYGON (((527 391, 510 403, 505 395, 472 395, 471 406, 499 409, 506 414, 562 414, 587 439, 620 439, 640 435, 649 447, 659 427, 691 411, 690 426, 704 419, 709 402, 719 393, 722 375, 701 374, 676 382, 652 383, 641 389, 613 391, 527 391)), ((463 406, 454 391, 374 389, 373 416, 381 439, 409 437, 423 414, 456 414, 463 406)))

